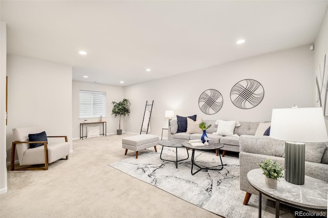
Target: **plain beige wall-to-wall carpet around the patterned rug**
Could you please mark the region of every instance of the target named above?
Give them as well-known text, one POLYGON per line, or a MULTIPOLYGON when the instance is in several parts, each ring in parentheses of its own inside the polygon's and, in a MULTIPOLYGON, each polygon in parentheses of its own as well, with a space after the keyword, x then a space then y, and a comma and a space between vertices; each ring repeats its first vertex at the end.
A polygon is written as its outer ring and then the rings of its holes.
POLYGON ((220 217, 109 167, 135 155, 124 155, 128 136, 75 140, 69 160, 47 171, 8 171, 0 217, 220 217))

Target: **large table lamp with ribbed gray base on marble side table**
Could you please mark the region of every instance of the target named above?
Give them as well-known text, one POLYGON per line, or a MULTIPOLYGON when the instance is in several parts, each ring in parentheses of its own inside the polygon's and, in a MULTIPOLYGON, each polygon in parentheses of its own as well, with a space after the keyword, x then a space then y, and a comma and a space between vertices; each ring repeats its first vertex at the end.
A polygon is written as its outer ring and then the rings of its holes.
POLYGON ((270 137, 285 141, 285 180, 304 184, 305 143, 328 141, 321 107, 272 110, 270 137))

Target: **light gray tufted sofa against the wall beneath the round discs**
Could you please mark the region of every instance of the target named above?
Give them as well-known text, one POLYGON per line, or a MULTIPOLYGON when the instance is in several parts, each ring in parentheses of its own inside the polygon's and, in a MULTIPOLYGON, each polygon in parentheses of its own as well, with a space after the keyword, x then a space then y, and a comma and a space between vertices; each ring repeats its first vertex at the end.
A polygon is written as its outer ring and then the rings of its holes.
MULTIPOLYGON (((235 151, 239 152, 239 136, 242 135, 251 135, 254 136, 256 129, 260 122, 242 122, 239 121, 240 126, 236 126, 234 130, 234 134, 238 136, 220 136, 220 135, 213 135, 213 133, 216 133, 218 125, 215 124, 216 120, 203 120, 203 122, 206 122, 207 125, 212 125, 210 128, 206 130, 206 133, 208 135, 208 138, 212 140, 213 142, 221 142, 223 147, 223 153, 222 157, 224 157, 224 154, 226 153, 226 150, 229 151, 235 151)), ((177 120, 173 119, 170 121, 169 126, 169 139, 186 139, 186 140, 194 140, 194 139, 200 139, 201 133, 196 134, 188 134, 186 133, 177 133, 178 124, 177 120)))

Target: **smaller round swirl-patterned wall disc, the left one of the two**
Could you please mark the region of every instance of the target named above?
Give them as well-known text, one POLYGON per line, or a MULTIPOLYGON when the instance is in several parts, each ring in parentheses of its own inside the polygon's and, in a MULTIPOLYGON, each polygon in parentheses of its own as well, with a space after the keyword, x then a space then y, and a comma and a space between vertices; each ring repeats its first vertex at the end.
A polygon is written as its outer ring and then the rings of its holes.
POLYGON ((215 114, 220 111, 223 105, 223 98, 217 90, 206 90, 199 96, 198 106, 204 114, 215 114))

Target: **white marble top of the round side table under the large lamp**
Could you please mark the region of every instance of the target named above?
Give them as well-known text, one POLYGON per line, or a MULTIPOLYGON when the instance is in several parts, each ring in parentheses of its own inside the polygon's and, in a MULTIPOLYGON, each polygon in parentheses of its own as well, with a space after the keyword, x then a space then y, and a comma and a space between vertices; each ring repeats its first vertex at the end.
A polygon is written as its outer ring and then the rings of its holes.
POLYGON ((250 184, 269 197, 302 208, 326 210, 328 183, 305 176, 304 185, 294 185, 283 178, 278 180, 277 189, 265 185, 262 169, 253 169, 247 173, 250 184))

